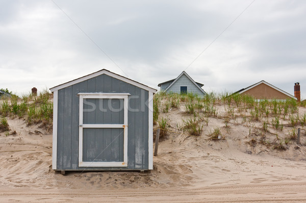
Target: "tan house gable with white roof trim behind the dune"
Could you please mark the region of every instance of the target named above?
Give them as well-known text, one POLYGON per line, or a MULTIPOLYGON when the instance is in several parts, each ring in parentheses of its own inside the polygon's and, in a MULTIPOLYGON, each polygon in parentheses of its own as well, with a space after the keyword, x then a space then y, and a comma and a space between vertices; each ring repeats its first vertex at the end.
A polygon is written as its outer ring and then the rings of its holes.
POLYGON ((267 83, 266 81, 261 81, 235 93, 248 94, 256 99, 297 99, 293 95, 267 83))

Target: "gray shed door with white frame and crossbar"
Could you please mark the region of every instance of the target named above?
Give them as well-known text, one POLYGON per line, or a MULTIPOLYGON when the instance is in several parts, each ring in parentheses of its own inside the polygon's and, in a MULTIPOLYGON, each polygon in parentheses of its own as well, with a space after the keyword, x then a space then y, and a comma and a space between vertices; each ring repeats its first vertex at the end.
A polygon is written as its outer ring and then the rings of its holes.
POLYGON ((79 93, 79 167, 127 166, 129 93, 79 93))

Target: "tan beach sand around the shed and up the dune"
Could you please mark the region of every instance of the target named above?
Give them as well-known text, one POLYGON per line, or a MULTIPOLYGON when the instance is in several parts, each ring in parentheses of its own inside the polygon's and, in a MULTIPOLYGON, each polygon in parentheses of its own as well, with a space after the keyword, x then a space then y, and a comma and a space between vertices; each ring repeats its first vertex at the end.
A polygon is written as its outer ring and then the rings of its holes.
MULTIPOLYGON (((222 106, 219 106, 220 113, 222 106)), ((299 112, 304 112, 300 108, 299 112)), ((52 134, 9 118, 11 132, 0 133, 1 202, 306 202, 305 129, 301 145, 285 151, 247 142, 258 132, 232 120, 210 117, 201 136, 177 129, 183 109, 171 109, 168 136, 159 144, 154 170, 68 172, 52 170, 52 134), (224 140, 209 139, 219 126, 224 140)), ((259 123, 258 123, 259 124, 259 123)), ((158 128, 155 125, 154 128, 158 128)), ((290 126, 278 136, 284 137, 290 126)), ((267 139, 273 141, 273 129, 267 139)), ((274 132, 275 133, 275 132, 274 132)), ((274 136, 274 137, 273 137, 274 136)))

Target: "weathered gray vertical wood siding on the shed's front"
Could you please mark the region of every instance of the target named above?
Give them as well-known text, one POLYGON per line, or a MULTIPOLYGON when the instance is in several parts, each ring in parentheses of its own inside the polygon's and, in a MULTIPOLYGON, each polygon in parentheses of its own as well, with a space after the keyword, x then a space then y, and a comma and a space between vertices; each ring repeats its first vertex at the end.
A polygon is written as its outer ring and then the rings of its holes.
MULTIPOLYGON (((102 74, 95 78, 60 89, 58 92, 58 143, 57 170, 142 170, 148 169, 148 91, 127 84, 109 75, 102 74), (80 92, 130 93, 129 108, 136 110, 128 113, 127 167, 79 167, 79 97, 80 92), (137 111, 138 110, 138 111, 137 111)), ((99 103, 98 99, 94 101, 99 103)), ((108 105, 103 103, 103 105, 108 105)), ((118 105, 114 101, 114 107, 118 105)), ((98 106, 97 106, 98 107, 98 106)), ((107 106, 104 106, 107 108, 107 106)), ((95 123, 96 119, 110 119, 111 122, 123 121, 120 112, 109 117, 104 112, 88 114, 84 121, 95 123), (92 114, 92 115, 91 115, 92 114), (112 120, 113 119, 113 120, 112 120)), ((85 114, 84 114, 85 115, 85 114)), ((85 123, 85 122, 84 122, 85 123)), ((122 129, 84 129, 83 157, 87 161, 122 161, 122 129), (86 139, 85 139, 86 137, 86 139), (99 146, 99 142, 103 146, 99 146), (111 143, 111 144, 110 144, 111 143), (110 144, 110 150, 103 150, 110 144)))

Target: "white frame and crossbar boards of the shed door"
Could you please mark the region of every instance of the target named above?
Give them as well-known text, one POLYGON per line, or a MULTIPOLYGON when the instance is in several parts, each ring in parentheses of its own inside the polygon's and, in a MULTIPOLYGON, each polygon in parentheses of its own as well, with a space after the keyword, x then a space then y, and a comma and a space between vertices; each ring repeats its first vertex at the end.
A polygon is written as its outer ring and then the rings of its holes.
POLYGON ((127 166, 127 112, 129 93, 79 93, 79 167, 126 167, 127 166), (123 124, 84 124, 83 99, 84 98, 118 98, 124 99, 123 124), (83 161, 83 128, 123 128, 123 162, 84 162, 83 161))

